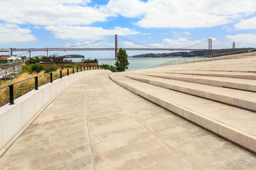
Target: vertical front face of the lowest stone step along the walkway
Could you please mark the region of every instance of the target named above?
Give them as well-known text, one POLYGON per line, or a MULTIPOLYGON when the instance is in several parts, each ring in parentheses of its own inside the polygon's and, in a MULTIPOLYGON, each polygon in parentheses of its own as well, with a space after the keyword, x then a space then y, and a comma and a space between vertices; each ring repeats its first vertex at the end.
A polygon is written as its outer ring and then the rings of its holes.
MULTIPOLYGON (((113 80, 115 83, 117 83, 118 85, 124 87, 123 86, 125 84, 124 82, 116 80, 115 78, 113 78, 110 75, 109 75, 109 78, 111 80, 113 80)), ((224 124, 218 120, 214 120, 213 118, 206 117, 205 115, 197 113, 196 111, 193 111, 193 110, 189 110, 188 108, 185 108, 184 106, 178 106, 175 103, 165 101, 164 99, 161 99, 161 97, 156 97, 153 94, 149 94, 149 93, 147 94, 147 92, 142 92, 142 95, 140 95, 140 93, 141 93, 140 89, 133 87, 131 85, 127 85, 127 84, 125 84, 125 85, 126 85, 126 87, 130 87, 129 89, 124 87, 125 89, 130 90, 131 92, 135 92, 135 94, 137 94, 141 97, 144 97, 148 101, 151 101, 152 103, 156 103, 157 105, 159 105, 163 108, 166 108, 166 110, 172 111, 176 115, 179 115, 180 117, 188 120, 189 122, 193 122, 194 124, 204 128, 204 129, 207 129, 207 131, 210 131, 210 132, 220 136, 221 138, 227 139, 228 141, 235 143, 236 145, 239 145, 242 148, 244 148, 252 153, 256 153, 256 136, 255 135, 250 134, 248 132, 241 131, 241 130, 237 129, 236 127, 232 127, 230 125, 224 124), (145 96, 145 95, 143 95, 143 93, 146 93, 147 95, 149 95, 151 97, 145 96), (156 97, 157 100, 159 100, 159 101, 158 102, 153 101, 152 97, 153 98, 156 97), (170 104, 172 106, 175 106, 176 109, 179 110, 179 112, 173 111, 173 108, 172 109, 170 108, 170 104), (199 119, 196 120, 196 118, 199 118, 199 119), (204 124, 202 124, 202 121, 204 121, 204 124)))

